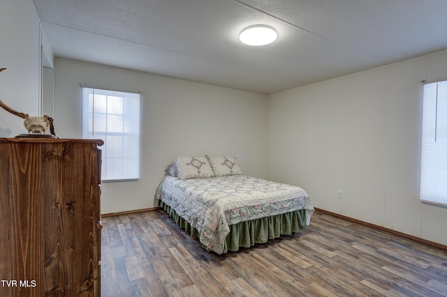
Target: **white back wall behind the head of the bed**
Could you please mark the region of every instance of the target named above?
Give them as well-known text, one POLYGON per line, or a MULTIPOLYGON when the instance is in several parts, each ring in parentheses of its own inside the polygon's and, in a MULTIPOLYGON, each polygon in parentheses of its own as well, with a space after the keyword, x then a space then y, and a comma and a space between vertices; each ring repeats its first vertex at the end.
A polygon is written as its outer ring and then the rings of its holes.
POLYGON ((267 96, 129 70, 55 59, 54 126, 81 137, 81 86, 142 91, 142 162, 137 182, 103 183, 101 213, 156 206, 176 156, 233 155, 244 173, 267 174, 267 96))

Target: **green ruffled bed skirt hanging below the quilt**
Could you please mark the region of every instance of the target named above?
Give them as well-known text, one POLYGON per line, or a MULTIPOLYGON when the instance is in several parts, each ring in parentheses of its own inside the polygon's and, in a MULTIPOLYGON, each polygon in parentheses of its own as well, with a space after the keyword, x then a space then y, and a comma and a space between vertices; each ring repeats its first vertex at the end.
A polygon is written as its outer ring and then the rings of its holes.
MULTIPOLYGON (((173 218, 175 222, 182 227, 186 232, 190 232, 191 236, 199 237, 196 228, 191 227, 189 222, 160 200, 160 207, 173 218)), ((250 220, 247 222, 240 222, 232 224, 230 233, 226 236, 223 253, 228 251, 237 251, 239 248, 250 248, 256 243, 266 243, 269 239, 278 238, 281 235, 291 235, 301 229, 306 228, 306 211, 301 209, 299 211, 291 211, 281 215, 274 215, 268 218, 261 218, 258 220, 250 220)), ((207 247, 202 245, 205 250, 207 247)))

